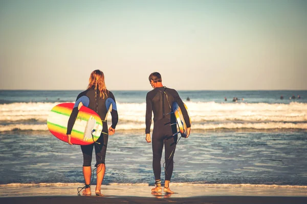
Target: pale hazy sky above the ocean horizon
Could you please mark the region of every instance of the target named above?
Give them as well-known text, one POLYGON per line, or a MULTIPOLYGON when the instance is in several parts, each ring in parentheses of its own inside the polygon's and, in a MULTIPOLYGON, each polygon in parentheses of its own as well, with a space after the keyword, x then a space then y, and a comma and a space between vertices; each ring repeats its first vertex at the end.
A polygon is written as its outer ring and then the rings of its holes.
POLYGON ((0 0, 0 90, 307 90, 307 1, 0 0))

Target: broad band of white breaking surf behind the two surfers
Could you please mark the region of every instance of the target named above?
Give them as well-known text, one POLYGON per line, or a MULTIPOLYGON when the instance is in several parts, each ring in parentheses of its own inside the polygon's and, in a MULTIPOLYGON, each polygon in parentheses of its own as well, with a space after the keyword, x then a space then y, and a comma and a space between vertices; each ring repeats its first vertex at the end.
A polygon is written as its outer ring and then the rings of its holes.
MULTIPOLYGON (((0 105, 0 132, 47 131, 50 110, 59 103, 0 105)), ((193 129, 307 129, 307 104, 223 104, 187 102, 193 129)), ((117 130, 145 129, 145 103, 118 103, 117 130)), ((111 121, 111 114, 108 114, 111 121)))

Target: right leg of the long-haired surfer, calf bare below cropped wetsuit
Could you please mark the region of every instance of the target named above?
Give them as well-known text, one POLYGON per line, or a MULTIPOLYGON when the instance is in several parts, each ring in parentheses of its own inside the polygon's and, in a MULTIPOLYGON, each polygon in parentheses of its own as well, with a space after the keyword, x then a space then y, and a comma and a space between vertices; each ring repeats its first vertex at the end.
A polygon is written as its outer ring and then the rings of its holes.
POLYGON ((106 147, 107 147, 108 135, 101 134, 97 142, 100 144, 95 144, 95 154, 96 154, 96 175, 97 175, 97 185, 95 189, 95 193, 97 196, 103 196, 100 192, 101 184, 103 181, 104 173, 105 173, 105 155, 106 155, 106 147))

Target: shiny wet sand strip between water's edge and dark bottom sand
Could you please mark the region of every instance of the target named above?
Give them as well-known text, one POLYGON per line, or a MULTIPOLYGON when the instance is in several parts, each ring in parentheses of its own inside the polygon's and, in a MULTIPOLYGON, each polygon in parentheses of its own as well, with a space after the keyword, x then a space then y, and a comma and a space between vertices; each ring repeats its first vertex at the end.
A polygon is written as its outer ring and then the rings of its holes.
MULTIPOLYGON (((84 184, 9 184, 0 185, 0 198, 4 197, 37 197, 37 196, 77 196, 77 188, 84 184)), ((92 195, 96 185, 92 185, 92 195)), ((109 184, 101 186, 101 193, 112 197, 152 197, 148 184, 109 184)), ((204 196, 281 196, 306 197, 307 186, 247 186, 247 185, 198 185, 179 184, 170 185, 175 194, 166 195, 171 198, 188 198, 204 196)), ((165 196, 164 193, 157 196, 165 196)), ((95 196, 94 196, 95 197, 95 196)), ((307 203, 307 202, 306 202, 307 203)))

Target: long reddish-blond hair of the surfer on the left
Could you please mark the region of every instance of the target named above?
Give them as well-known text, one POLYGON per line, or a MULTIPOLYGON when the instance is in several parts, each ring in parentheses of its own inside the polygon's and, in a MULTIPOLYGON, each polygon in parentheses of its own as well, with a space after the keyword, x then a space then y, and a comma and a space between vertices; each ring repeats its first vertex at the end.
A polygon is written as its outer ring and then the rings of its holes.
POLYGON ((104 74, 99 69, 96 69, 91 73, 89 86, 87 86, 87 89, 90 88, 94 88, 95 91, 97 91, 98 89, 100 93, 100 98, 101 96, 103 96, 104 98, 104 94, 107 96, 107 90, 104 83, 104 74))

